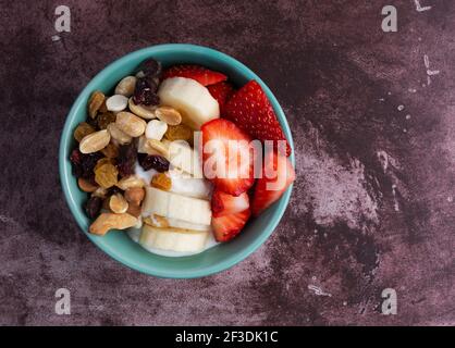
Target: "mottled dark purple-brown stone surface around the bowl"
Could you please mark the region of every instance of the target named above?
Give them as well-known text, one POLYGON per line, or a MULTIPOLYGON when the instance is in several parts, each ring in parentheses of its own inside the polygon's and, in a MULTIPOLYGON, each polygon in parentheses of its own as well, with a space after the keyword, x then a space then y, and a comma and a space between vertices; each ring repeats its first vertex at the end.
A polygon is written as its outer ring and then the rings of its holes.
POLYGON ((455 2, 0 1, 0 324, 455 324, 455 2), (72 32, 53 11, 70 5, 72 32), (285 219, 218 275, 158 279, 98 250, 60 189, 65 115, 112 60, 162 42, 257 72, 293 129, 285 219), (428 54, 428 84, 423 57, 428 54), (399 111, 399 105, 404 110, 399 111), (72 314, 54 314, 54 291, 72 314), (394 288, 397 315, 381 314, 394 288))

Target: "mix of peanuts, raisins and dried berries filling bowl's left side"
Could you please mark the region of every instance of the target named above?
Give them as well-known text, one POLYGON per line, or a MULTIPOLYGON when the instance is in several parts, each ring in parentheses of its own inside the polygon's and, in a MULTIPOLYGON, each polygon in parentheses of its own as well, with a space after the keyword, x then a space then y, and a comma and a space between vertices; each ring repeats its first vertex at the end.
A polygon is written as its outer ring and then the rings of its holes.
POLYGON ((95 90, 87 120, 74 129, 77 147, 70 161, 79 189, 88 195, 84 208, 93 234, 137 225, 146 185, 171 188, 164 174, 168 147, 161 140, 190 140, 193 130, 181 124, 177 110, 160 104, 161 73, 161 63, 150 59, 135 76, 122 78, 112 95, 95 90), (136 162, 158 172, 150 183, 135 175, 136 162))

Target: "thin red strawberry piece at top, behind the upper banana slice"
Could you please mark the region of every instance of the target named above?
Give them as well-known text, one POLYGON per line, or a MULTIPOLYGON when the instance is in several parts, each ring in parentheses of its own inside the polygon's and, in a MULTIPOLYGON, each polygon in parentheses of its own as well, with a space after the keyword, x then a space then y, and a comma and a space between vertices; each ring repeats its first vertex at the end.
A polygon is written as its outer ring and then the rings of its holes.
POLYGON ((196 79, 202 86, 214 85, 228 79, 228 76, 207 67, 193 64, 174 65, 163 72, 163 79, 169 77, 186 77, 196 79))

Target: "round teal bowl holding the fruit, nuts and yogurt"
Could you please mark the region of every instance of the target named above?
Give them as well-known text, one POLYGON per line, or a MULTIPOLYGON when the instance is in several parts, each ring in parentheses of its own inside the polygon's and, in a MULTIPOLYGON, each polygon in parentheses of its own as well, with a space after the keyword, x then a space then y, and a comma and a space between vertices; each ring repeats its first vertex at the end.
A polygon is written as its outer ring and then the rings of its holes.
MULTIPOLYGON (((94 90, 99 89, 107 94, 112 91, 122 77, 133 73, 140 62, 148 58, 161 61, 164 66, 176 63, 205 65, 226 74, 230 80, 238 86, 250 79, 256 79, 269 97, 284 133, 293 147, 291 130, 276 98, 269 87, 244 64, 232 57, 206 47, 180 44, 152 46, 126 54, 108 65, 90 80, 77 97, 67 115, 60 140, 59 167, 63 191, 71 212, 88 238, 121 263, 158 277, 194 278, 218 273, 244 260, 272 234, 286 209, 292 186, 278 202, 259 217, 248 222, 242 234, 232 241, 218 245, 195 256, 169 258, 153 254, 131 240, 125 233, 119 231, 111 231, 102 237, 87 233, 90 222, 83 209, 87 195, 78 189, 77 181, 72 174, 69 160, 70 153, 75 147, 73 132, 79 122, 86 120, 87 100, 94 90)), ((291 161, 293 164, 295 163, 294 153, 291 156, 291 161)))

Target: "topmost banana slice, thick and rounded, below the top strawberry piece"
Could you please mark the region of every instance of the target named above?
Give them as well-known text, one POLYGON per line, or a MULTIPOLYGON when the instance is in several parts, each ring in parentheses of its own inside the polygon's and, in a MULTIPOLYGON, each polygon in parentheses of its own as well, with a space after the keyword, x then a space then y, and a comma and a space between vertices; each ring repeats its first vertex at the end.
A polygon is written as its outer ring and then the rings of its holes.
POLYGON ((206 87, 192 78, 164 79, 160 85, 158 96, 163 105, 179 110, 183 123, 193 129, 200 129, 204 123, 220 117, 218 101, 206 87))

